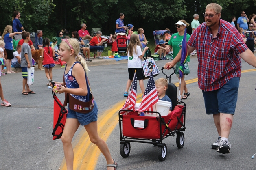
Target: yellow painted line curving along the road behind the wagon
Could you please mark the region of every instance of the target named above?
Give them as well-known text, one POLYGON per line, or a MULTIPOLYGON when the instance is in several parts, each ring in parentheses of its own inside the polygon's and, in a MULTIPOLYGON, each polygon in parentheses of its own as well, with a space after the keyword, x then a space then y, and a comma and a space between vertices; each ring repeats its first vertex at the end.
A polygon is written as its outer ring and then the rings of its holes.
MULTIPOLYGON (((256 71, 256 69, 243 70, 241 73, 256 71)), ((197 82, 197 78, 186 80, 186 84, 197 82)), ((179 86, 179 83, 175 83, 179 86)), ((142 101, 142 94, 137 95, 137 102, 142 101)), ((111 135, 112 131, 118 124, 118 112, 123 107, 125 100, 118 102, 112 108, 103 112, 102 116, 98 118, 98 135, 106 141, 111 135)), ((75 170, 94 170, 97 164, 100 151, 95 144, 90 142, 88 133, 82 129, 76 138, 77 144, 74 146, 74 169, 75 170)), ((66 170, 65 158, 60 166, 61 170, 66 170)))

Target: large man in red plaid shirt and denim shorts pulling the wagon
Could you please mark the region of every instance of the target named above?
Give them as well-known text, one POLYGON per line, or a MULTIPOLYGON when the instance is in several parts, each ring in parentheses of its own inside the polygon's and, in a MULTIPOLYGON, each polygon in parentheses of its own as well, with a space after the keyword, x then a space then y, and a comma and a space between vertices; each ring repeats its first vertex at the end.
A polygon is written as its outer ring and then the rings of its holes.
MULTIPOLYGON (((212 114, 218 140, 212 144, 219 153, 230 153, 228 136, 236 108, 241 58, 256 67, 256 57, 243 43, 239 32, 221 17, 222 7, 211 3, 203 14, 205 22, 199 25, 188 41, 188 54, 197 50, 198 86, 203 92, 206 114, 212 114), (241 58, 240 58, 241 57, 241 58)), ((181 59, 181 51, 172 62, 164 65, 170 69, 181 59)))

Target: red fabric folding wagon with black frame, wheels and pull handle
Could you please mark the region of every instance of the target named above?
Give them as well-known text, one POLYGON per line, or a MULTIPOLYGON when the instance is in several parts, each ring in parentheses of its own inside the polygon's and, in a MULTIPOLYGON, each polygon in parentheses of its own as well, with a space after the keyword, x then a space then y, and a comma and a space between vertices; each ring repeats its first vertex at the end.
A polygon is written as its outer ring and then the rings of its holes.
MULTIPOLYGON (((163 72, 162 68, 162 73, 163 72)), ((175 73, 175 69, 172 68, 175 73)), ((164 75, 166 75, 164 73, 164 75)), ((184 133, 185 131, 185 118, 186 118, 186 104, 181 102, 182 105, 177 105, 177 87, 171 83, 171 75, 166 79, 170 79, 168 83, 168 90, 166 95, 172 101, 172 110, 167 116, 161 116, 159 112, 145 112, 153 113, 158 116, 138 116, 138 112, 133 110, 120 110, 119 111, 119 129, 120 129, 120 154, 122 157, 128 157, 131 151, 130 142, 147 143, 158 146, 158 159, 164 161, 167 156, 167 146, 163 140, 168 136, 176 137, 176 145, 178 148, 184 146, 184 133), (127 111, 127 114, 120 114, 121 111, 127 111), (128 113, 129 112, 129 113, 128 113), (140 123, 141 126, 136 127, 140 123)), ((123 113, 123 112, 122 112, 123 113)))

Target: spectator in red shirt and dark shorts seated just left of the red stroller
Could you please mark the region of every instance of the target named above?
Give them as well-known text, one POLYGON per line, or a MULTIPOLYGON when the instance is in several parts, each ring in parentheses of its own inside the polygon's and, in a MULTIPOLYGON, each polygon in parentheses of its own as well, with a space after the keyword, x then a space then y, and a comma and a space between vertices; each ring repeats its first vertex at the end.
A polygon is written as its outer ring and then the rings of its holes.
MULTIPOLYGON (((97 50, 97 57, 96 59, 103 59, 101 57, 101 54, 104 50, 103 42, 106 41, 106 39, 101 39, 101 31, 96 32, 96 36, 94 36, 91 40, 90 45, 90 51, 97 50)), ((95 57, 94 57, 95 58, 95 57)))

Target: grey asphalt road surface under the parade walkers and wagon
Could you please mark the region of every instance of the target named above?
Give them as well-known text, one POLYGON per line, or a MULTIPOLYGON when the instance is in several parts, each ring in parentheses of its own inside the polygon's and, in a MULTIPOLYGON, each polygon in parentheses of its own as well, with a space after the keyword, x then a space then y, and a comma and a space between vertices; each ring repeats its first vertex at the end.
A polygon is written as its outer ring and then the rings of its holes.
MULTIPOLYGON (((162 67, 167 61, 158 61, 162 67)), ((242 70, 254 69, 243 61, 242 70)), ((190 61, 190 74, 186 80, 197 77, 197 59, 190 61)), ((98 104, 98 116, 124 101, 123 93, 128 79, 127 64, 90 66, 89 80, 98 104)), ((63 79, 64 69, 53 70, 53 80, 63 79)), ((166 71, 169 73, 169 71, 166 71)), ((178 149, 176 137, 164 140, 167 145, 167 157, 158 161, 157 147, 152 144, 131 143, 129 157, 120 155, 119 128, 116 126, 107 138, 112 157, 118 162, 118 170, 160 170, 160 169, 225 169, 253 170, 256 160, 254 128, 256 115, 255 76, 256 71, 242 73, 234 123, 229 141, 232 145, 228 155, 217 153, 210 145, 217 139, 212 116, 205 114, 203 96, 197 83, 188 84, 190 97, 185 101, 186 131, 184 148, 178 149)), ((155 80, 165 77, 162 73, 155 80)), ((172 82, 177 82, 172 77, 172 82)), ((0 170, 58 170, 63 163, 61 140, 52 140, 53 97, 46 86, 44 71, 35 71, 35 84, 31 86, 36 94, 22 95, 22 73, 1 77, 4 97, 11 107, 0 107, 0 170)), ((147 81, 144 82, 145 86, 147 81)), ((141 93, 138 88, 138 94, 141 93)), ((61 101, 64 95, 58 95, 61 101)), ((107 129, 108 127, 105 127, 107 129)), ((77 134, 83 127, 80 127, 77 134)), ((80 136, 74 138, 73 146, 80 136)), ((102 154, 95 159, 95 169, 106 169, 102 154)), ((83 169, 83 168, 81 168, 83 169)))

